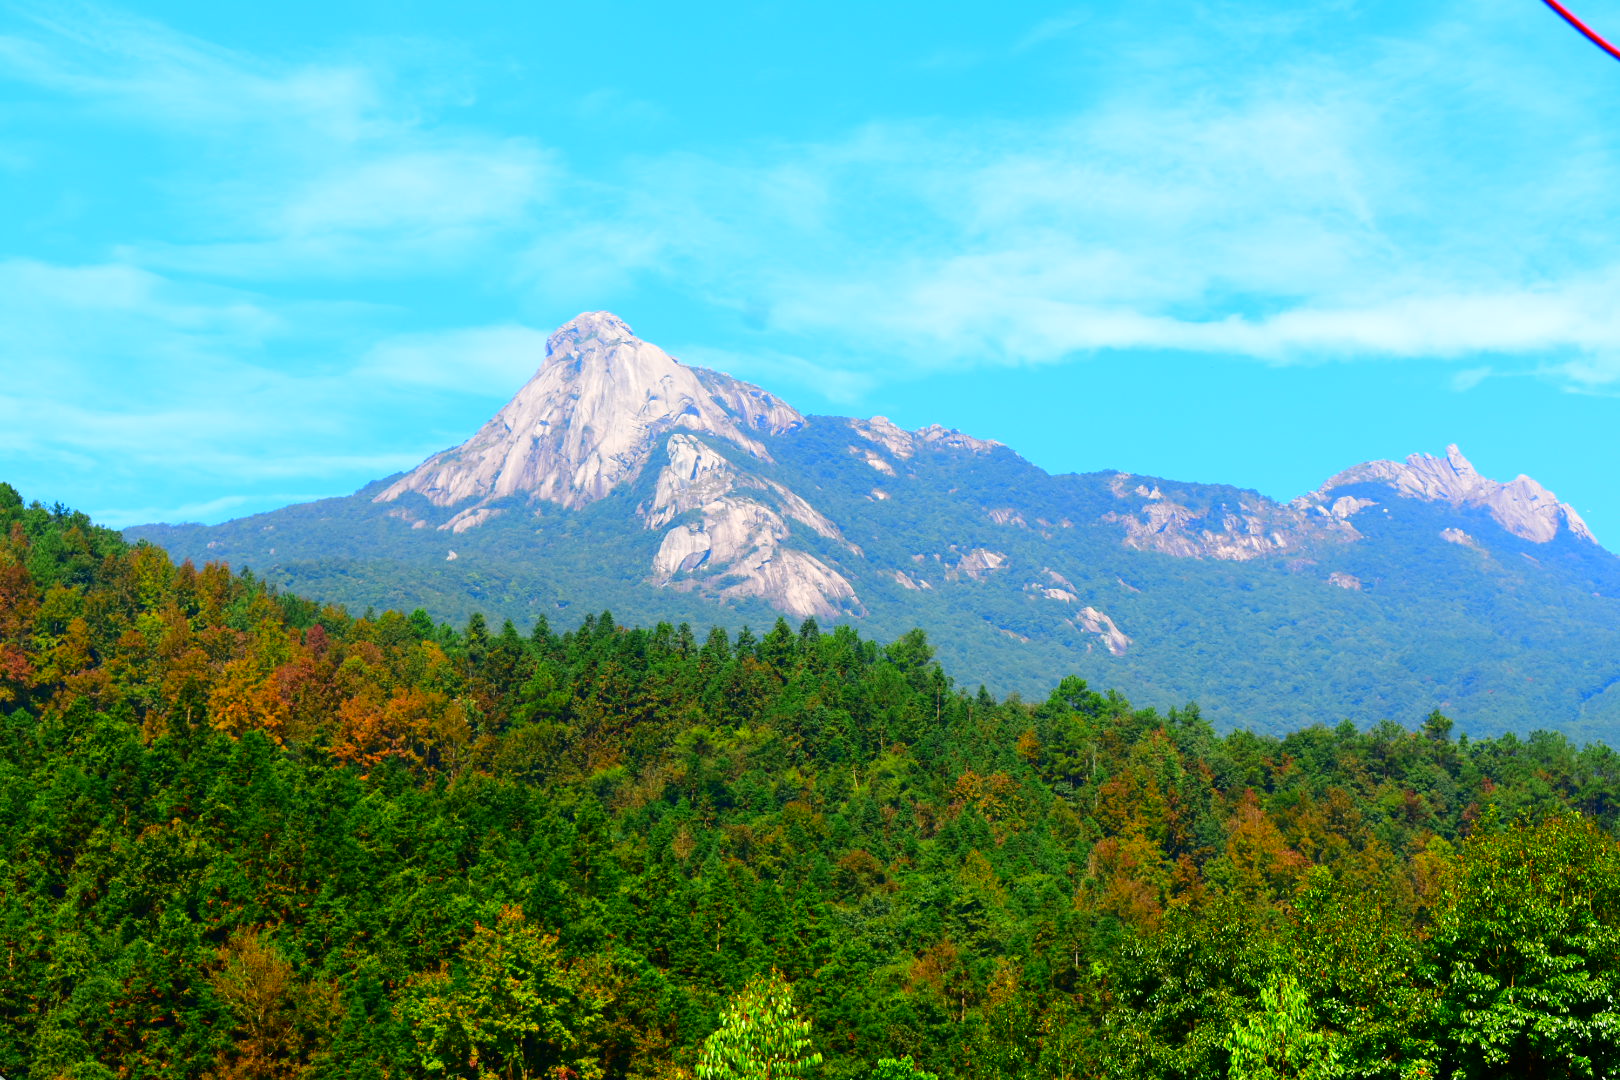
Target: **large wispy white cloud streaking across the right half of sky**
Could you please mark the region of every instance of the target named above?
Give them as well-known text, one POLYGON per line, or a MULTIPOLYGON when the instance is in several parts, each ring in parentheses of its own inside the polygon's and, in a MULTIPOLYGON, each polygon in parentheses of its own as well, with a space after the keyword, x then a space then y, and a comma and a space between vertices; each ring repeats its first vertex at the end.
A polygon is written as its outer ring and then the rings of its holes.
POLYGON ((1056 121, 870 125, 642 164, 656 186, 630 175, 611 210, 543 235, 538 282, 679 277, 816 363, 880 340, 889 377, 1179 350, 1565 356, 1549 377, 1617 379, 1615 147, 1589 138, 1588 104, 1500 86, 1476 100, 1507 18, 1294 50, 1213 94, 1121 87, 1056 121), (1487 113, 1511 146, 1456 128, 1487 113), (1489 178, 1482 157, 1503 159, 1489 178), (1552 159, 1555 175, 1524 165, 1552 159))

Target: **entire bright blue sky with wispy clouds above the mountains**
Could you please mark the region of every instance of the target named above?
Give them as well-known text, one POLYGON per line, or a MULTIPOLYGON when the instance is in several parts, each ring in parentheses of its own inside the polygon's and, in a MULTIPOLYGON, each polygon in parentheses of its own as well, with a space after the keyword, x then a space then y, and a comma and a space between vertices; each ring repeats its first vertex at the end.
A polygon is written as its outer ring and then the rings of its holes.
POLYGON ((1053 471, 1460 442, 1620 547, 1620 65, 1536 0, 0 2, 0 478, 113 525, 415 465, 611 309, 1053 471))

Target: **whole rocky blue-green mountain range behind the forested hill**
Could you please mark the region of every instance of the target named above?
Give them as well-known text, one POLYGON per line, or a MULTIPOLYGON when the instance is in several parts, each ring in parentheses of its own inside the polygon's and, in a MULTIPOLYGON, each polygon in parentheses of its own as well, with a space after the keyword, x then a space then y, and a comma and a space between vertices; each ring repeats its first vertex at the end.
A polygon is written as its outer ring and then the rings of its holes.
POLYGON ((923 628, 967 683, 1061 674, 1220 725, 1620 735, 1620 559, 1536 481, 1369 461, 1280 504, 1053 476, 959 431, 802 416, 608 313, 460 447, 355 495, 131 538, 352 609, 923 628))

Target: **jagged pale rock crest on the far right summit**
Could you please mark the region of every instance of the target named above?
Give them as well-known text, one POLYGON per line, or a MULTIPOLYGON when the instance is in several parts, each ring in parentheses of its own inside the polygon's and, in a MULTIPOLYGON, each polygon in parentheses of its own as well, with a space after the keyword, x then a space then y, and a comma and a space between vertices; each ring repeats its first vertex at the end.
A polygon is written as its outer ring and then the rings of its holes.
MULTIPOLYGON (((1550 491, 1523 474, 1508 483, 1481 476, 1456 449, 1456 444, 1445 449, 1443 458, 1414 453, 1405 461, 1356 465, 1322 484, 1311 495, 1298 499, 1294 505, 1328 507, 1330 513, 1338 513, 1338 507, 1348 497, 1330 499, 1330 494, 1351 484, 1383 484, 1401 499, 1484 508, 1508 533, 1536 544, 1545 544, 1562 529, 1568 529, 1571 536, 1591 544, 1597 542, 1581 515, 1568 504, 1558 502, 1550 491)), ((1366 500, 1356 502, 1371 505, 1366 500)))

